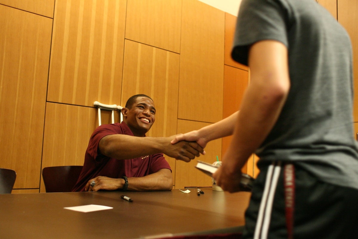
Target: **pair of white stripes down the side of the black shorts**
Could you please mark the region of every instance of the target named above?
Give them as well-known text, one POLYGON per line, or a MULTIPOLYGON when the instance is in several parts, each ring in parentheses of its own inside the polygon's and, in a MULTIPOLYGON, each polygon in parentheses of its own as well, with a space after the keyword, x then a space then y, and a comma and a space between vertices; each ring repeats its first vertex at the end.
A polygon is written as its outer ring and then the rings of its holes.
POLYGON ((281 162, 272 162, 267 170, 265 188, 261 199, 260 209, 256 222, 254 239, 266 239, 269 231, 272 204, 276 191, 277 181, 281 171, 281 162))

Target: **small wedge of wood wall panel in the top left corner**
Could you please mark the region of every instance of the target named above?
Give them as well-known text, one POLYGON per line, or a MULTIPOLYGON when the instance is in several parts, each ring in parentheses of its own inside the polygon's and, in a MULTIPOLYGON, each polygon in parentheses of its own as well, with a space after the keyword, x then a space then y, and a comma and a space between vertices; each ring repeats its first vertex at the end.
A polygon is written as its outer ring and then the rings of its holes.
POLYGON ((0 4, 53 18, 55 0, 0 0, 0 4))

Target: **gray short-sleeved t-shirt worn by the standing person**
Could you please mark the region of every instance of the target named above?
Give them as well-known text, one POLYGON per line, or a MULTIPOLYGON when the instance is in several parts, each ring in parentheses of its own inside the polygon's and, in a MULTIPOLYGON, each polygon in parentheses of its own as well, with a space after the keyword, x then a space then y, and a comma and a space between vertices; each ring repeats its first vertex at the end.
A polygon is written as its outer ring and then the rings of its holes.
POLYGON ((232 57, 277 40, 288 49, 290 91, 256 154, 260 164, 295 161, 320 180, 358 188, 353 138, 352 47, 345 29, 314 0, 243 0, 232 57))

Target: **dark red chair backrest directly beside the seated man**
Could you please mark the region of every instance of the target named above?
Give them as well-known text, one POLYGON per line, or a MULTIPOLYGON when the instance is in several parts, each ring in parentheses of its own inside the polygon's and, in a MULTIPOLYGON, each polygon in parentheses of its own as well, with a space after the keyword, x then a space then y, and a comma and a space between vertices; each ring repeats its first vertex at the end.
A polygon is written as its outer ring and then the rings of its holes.
POLYGON ((42 169, 46 192, 71 192, 83 166, 53 166, 42 169))

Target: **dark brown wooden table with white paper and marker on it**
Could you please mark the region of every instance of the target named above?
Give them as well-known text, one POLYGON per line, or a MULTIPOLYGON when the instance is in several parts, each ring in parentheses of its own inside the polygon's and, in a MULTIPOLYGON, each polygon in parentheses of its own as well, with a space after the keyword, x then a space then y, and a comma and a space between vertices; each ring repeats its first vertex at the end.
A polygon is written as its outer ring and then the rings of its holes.
MULTIPOLYGON (((1 238, 144 238, 239 230, 250 193, 66 192, 0 195, 1 238), (121 195, 131 197, 128 202, 121 195), (64 207, 103 205, 78 212, 64 207)), ((185 189, 183 189, 185 191, 185 189)))

